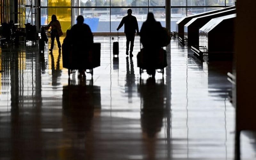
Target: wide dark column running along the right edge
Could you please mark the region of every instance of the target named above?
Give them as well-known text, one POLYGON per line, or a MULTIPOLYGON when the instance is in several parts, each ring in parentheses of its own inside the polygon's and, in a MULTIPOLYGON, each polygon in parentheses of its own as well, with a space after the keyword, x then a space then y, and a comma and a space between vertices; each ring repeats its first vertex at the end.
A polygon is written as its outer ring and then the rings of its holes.
POLYGON ((236 160, 240 160, 242 131, 256 131, 255 108, 255 44, 256 1, 236 1, 235 59, 232 101, 236 108, 236 160))

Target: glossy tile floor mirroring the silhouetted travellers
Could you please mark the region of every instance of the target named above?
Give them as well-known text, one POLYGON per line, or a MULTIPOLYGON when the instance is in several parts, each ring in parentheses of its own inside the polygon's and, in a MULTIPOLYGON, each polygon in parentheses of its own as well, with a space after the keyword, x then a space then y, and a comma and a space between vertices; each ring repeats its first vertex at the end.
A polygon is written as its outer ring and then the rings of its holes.
MULTIPOLYGON (((114 41, 94 37, 101 66, 86 80, 68 81, 57 48, 0 50, 0 160, 234 159, 231 62, 201 62, 174 39, 164 76, 140 79, 139 37, 132 58, 124 36, 114 58, 114 41)), ((255 146, 255 135, 242 133, 242 159, 256 159, 255 146)))

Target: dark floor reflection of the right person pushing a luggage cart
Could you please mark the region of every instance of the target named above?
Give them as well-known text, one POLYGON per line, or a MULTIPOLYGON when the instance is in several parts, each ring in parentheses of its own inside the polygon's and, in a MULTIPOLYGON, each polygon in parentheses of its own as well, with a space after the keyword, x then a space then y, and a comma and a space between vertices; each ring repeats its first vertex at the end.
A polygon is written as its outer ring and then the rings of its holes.
POLYGON ((142 100, 140 120, 144 145, 148 159, 155 159, 156 134, 163 126, 165 86, 162 82, 156 84, 155 78, 150 77, 146 84, 138 85, 138 92, 142 100))

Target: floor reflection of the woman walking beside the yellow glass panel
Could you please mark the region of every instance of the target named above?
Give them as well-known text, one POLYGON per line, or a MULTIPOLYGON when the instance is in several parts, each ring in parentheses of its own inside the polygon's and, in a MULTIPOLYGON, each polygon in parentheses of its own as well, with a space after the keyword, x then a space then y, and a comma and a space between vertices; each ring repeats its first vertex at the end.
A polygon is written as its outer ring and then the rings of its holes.
POLYGON ((58 77, 61 76, 61 70, 60 70, 60 57, 61 57, 61 52, 59 51, 58 53, 58 59, 56 62, 56 68, 55 68, 55 63, 54 63, 54 55, 51 52, 51 62, 52 62, 52 86, 57 86, 60 85, 60 82, 58 82, 58 77))

